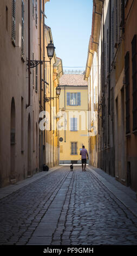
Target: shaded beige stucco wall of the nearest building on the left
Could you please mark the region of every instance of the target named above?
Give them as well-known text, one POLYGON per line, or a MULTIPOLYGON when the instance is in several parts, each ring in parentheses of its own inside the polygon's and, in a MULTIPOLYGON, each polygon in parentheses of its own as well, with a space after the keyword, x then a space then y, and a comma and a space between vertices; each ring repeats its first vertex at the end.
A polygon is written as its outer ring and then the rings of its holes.
MULTIPOLYGON (((16 114, 16 133, 15 133, 15 181, 24 179, 28 175, 28 115, 30 114, 31 122, 31 174, 36 171, 36 150, 33 151, 33 111, 34 123, 38 123, 38 97, 35 95, 35 90, 32 88, 32 74, 31 74, 31 99, 30 106, 28 104, 28 68, 26 60, 28 58, 28 2, 24 1, 24 60, 21 59, 21 38, 19 27, 21 26, 21 3, 16 1, 16 47, 11 42, 11 10, 12 1, 6 0, 0 2, 0 21, 3 26, 0 30, 0 55, 1 55, 1 69, 0 69, 0 179, 1 186, 8 185, 10 182, 10 119, 11 119, 11 100, 15 100, 15 114, 16 114), (5 10, 8 7, 8 30, 6 30, 5 10), (23 149, 21 149, 21 97, 23 97, 23 149), (21 150, 23 150, 21 152, 21 150)), ((31 4, 32 11, 32 4, 31 4)), ((38 56, 38 34, 33 27, 35 20, 30 14, 30 31, 31 31, 31 57, 32 51, 36 52, 38 56), (33 37, 34 36, 34 37, 33 37), (35 40, 33 40, 35 38, 35 40), (32 49, 32 42, 35 47, 32 49)), ((38 139, 38 138, 37 138, 38 139)), ((36 140, 36 136, 35 136, 36 140)), ((38 149, 37 149, 38 150, 38 149)))

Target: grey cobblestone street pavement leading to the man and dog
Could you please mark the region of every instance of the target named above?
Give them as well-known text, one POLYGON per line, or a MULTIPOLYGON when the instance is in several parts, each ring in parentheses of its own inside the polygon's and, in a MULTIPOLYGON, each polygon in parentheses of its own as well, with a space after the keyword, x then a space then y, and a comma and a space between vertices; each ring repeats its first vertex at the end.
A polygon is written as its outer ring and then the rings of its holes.
POLYGON ((136 245, 137 218, 92 170, 61 167, 0 200, 1 245, 136 245))

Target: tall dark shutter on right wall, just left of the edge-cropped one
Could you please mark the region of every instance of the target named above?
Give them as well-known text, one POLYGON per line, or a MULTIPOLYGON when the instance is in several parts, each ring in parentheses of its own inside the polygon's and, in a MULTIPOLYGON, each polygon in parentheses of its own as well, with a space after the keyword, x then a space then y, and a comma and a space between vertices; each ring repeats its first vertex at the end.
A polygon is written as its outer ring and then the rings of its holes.
POLYGON ((126 78, 126 134, 130 133, 130 92, 129 92, 129 52, 125 56, 126 78))

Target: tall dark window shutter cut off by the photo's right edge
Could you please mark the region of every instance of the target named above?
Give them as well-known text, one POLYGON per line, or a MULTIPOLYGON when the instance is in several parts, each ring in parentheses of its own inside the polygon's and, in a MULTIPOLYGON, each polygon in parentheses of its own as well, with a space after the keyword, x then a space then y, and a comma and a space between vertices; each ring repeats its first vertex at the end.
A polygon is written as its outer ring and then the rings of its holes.
POLYGON ((132 40, 133 131, 137 130, 136 35, 132 40))

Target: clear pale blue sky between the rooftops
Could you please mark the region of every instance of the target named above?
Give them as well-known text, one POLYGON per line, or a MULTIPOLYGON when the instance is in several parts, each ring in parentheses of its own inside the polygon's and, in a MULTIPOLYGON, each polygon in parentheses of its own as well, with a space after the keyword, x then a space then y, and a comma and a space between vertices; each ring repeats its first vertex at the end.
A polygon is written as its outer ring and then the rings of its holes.
POLYGON ((63 66, 86 67, 92 7, 93 0, 50 0, 45 4, 45 24, 51 28, 56 56, 63 66))

